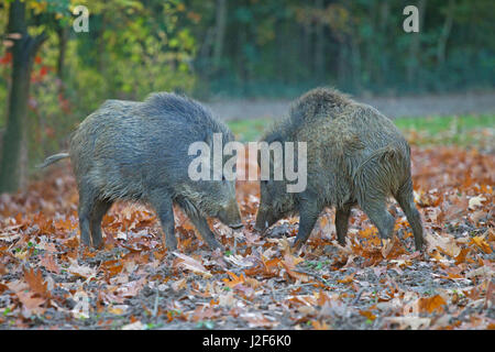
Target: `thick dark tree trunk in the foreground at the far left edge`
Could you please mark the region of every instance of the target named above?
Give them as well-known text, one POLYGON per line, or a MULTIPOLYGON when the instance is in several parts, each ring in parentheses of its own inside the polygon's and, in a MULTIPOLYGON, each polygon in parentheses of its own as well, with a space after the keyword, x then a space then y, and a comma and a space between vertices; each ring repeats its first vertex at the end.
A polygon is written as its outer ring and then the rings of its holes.
POLYGON ((36 37, 28 34, 25 3, 19 0, 10 4, 7 33, 19 33, 12 46, 12 75, 9 94, 7 129, 3 138, 0 167, 0 193, 15 191, 25 185, 28 172, 28 99, 33 58, 45 33, 36 37))

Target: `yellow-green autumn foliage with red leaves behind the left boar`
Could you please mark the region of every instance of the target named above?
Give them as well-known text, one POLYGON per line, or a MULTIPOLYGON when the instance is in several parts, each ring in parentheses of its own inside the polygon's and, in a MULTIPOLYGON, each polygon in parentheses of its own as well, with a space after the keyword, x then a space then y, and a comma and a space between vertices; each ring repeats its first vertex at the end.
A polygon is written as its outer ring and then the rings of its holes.
MULTIPOLYGON (((31 78, 31 165, 66 148, 78 122, 106 99, 141 100, 153 91, 191 91, 197 43, 189 28, 179 25, 184 9, 180 0, 26 1, 30 33, 45 31, 50 35, 31 78), (89 33, 72 31, 72 11, 78 4, 88 7, 89 33), (62 53, 58 34, 64 28, 68 36, 62 53), (59 70, 61 55, 64 67, 59 70)), ((1 11, 0 26, 7 28, 7 11, 1 11)), ((11 68, 8 48, 2 47, 0 131, 6 123, 11 68)))

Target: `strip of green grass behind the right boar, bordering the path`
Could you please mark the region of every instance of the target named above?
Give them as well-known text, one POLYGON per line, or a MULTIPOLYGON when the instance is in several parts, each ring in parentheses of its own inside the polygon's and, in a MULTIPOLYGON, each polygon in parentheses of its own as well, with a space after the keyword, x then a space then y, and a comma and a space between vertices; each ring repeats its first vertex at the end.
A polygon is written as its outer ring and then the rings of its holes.
MULTIPOLYGON (((229 121, 241 142, 257 141, 272 123, 271 119, 229 121)), ((494 147, 495 114, 400 118, 394 123, 411 144, 455 144, 494 147)))

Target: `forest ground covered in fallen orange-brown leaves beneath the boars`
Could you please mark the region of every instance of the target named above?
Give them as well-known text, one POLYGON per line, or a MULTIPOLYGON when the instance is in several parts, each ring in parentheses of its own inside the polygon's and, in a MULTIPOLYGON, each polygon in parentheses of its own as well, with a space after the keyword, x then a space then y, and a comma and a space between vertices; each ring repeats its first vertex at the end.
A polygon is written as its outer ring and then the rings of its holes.
POLYGON ((103 219, 105 249, 88 250, 69 163, 54 166, 0 197, 0 329, 495 329, 493 130, 479 135, 479 147, 411 146, 424 253, 395 202, 391 241, 354 209, 340 246, 328 209, 294 253, 298 218, 261 238, 249 182, 238 183, 245 228, 210 222, 223 252, 176 209, 168 253, 155 213, 123 202, 103 219))

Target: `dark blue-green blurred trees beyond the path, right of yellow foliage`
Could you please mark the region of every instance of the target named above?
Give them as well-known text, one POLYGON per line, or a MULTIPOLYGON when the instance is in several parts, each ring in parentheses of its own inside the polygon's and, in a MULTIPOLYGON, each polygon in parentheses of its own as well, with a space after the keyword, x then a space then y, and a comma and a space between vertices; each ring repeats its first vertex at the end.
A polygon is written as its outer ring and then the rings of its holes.
MULTIPOLYGON (((209 91, 226 96, 292 98, 318 85, 380 95, 493 88, 495 3, 425 3, 420 33, 409 34, 404 1, 231 0, 220 69, 211 73, 212 51, 195 64, 209 91)), ((212 42, 216 15, 208 9, 194 29, 200 43, 212 42)))

